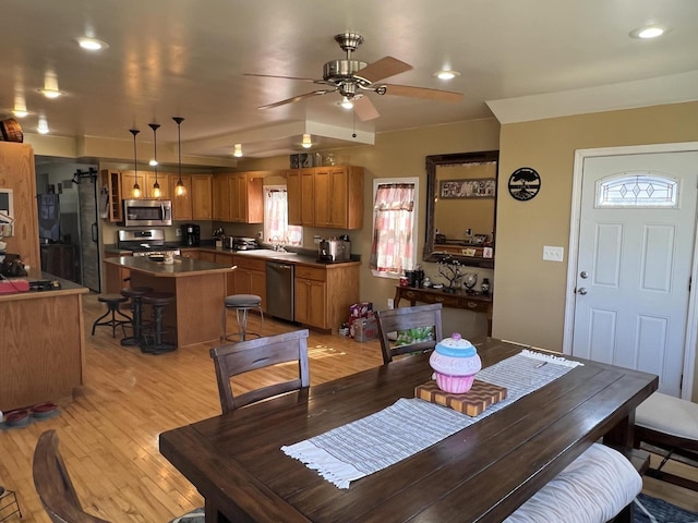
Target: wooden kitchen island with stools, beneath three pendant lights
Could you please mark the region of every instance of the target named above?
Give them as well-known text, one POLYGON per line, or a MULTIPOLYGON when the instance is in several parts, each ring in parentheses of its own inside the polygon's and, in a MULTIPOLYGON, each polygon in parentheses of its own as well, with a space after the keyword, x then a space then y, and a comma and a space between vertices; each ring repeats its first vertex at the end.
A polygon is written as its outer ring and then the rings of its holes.
POLYGON ((131 287, 174 294, 174 303, 165 307, 165 325, 173 329, 172 343, 178 348, 220 339, 227 278, 233 270, 230 265, 182 256, 174 256, 172 265, 147 256, 119 256, 105 263, 129 269, 131 287))

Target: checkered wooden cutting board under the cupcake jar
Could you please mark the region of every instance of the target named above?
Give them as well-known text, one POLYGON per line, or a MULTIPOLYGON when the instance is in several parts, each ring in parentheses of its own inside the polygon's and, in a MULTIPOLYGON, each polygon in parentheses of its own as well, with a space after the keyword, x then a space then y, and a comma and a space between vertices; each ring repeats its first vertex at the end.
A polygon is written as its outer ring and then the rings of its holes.
POLYGON ((453 394, 441 390, 436 381, 432 380, 418 385, 414 388, 414 397, 474 417, 482 414, 488 406, 504 400, 506 388, 476 379, 468 392, 453 394))

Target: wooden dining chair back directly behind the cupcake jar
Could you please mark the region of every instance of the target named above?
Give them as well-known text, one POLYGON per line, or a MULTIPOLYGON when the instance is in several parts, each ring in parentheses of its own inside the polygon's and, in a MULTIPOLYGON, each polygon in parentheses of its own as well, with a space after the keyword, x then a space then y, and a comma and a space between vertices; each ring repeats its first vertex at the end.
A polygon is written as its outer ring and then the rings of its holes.
POLYGON ((441 309, 441 303, 433 303, 377 311, 375 315, 378 320, 383 363, 390 363, 395 356, 401 354, 433 350, 443 339, 441 309), (419 336, 425 331, 425 328, 433 329, 429 339, 419 336), (389 338, 393 332, 398 332, 396 343, 392 343, 389 338), (400 332, 404 335, 400 336, 400 332), (416 332, 418 336, 410 336, 410 332, 416 332))

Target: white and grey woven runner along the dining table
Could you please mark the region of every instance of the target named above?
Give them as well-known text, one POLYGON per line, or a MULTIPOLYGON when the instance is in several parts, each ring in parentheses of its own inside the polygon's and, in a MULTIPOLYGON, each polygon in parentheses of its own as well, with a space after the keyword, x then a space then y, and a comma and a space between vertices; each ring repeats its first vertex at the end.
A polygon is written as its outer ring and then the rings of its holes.
POLYGON ((507 398, 476 417, 417 398, 400 398, 375 414, 281 450, 335 486, 349 488, 350 482, 437 443, 564 376, 577 365, 582 364, 524 350, 478 373, 478 379, 506 387, 507 398))

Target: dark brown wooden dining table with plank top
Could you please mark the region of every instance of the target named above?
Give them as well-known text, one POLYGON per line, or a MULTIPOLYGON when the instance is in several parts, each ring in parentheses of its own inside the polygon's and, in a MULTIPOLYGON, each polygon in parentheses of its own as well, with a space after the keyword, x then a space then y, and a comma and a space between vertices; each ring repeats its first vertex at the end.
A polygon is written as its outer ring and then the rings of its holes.
MULTIPOLYGON (((526 349, 491 338, 476 346, 484 369, 526 349)), ((204 497, 208 523, 500 522, 595 441, 631 449, 635 409, 659 381, 564 355, 582 365, 348 488, 281 450, 414 398, 432 377, 429 357, 409 355, 165 431, 160 453, 204 497)))

